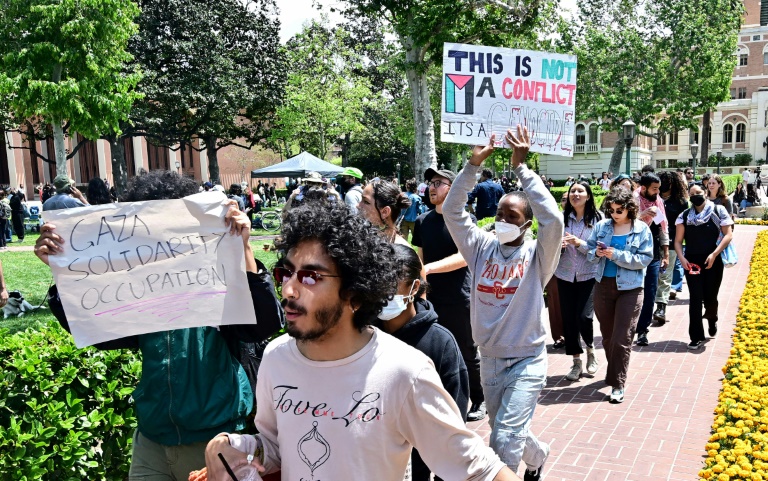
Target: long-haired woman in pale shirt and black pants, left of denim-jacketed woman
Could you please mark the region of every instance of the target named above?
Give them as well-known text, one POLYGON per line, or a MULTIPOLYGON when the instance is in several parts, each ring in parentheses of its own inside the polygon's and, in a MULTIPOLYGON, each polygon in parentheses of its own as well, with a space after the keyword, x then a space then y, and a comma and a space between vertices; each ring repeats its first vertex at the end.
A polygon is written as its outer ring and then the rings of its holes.
POLYGON ((588 374, 597 372, 592 328, 592 292, 597 264, 587 261, 587 239, 602 218, 589 184, 580 181, 571 185, 563 210, 563 248, 555 270, 565 333, 565 354, 573 356, 573 366, 565 376, 569 381, 578 381, 584 372, 581 363, 584 350, 579 336, 587 347, 586 371, 588 374))

